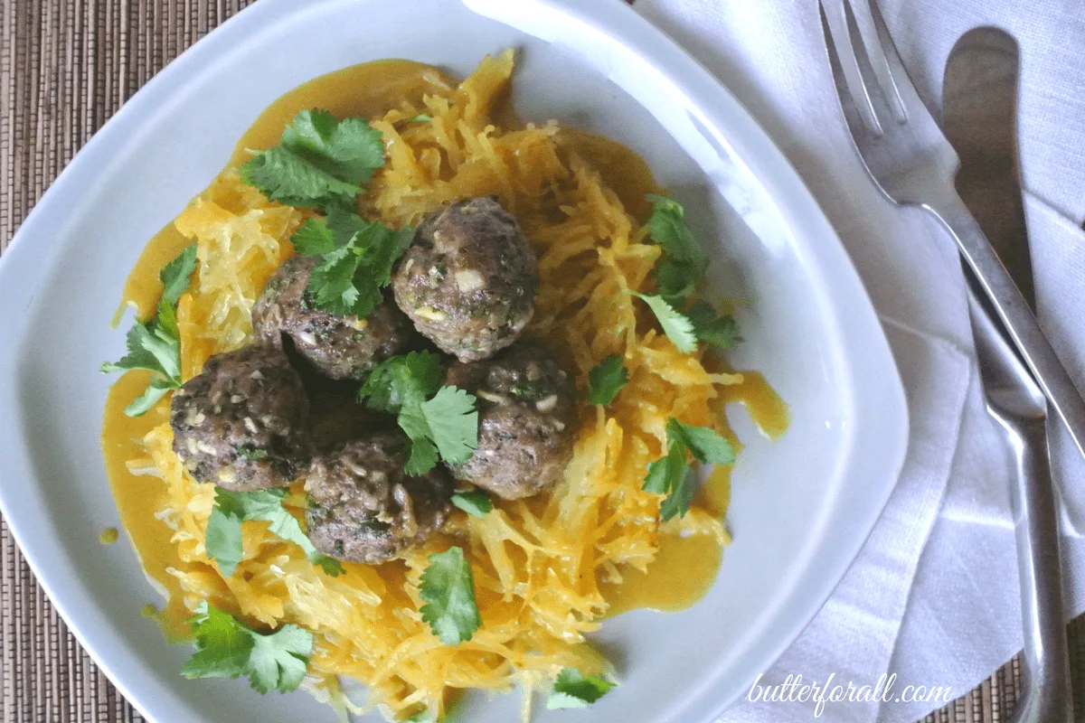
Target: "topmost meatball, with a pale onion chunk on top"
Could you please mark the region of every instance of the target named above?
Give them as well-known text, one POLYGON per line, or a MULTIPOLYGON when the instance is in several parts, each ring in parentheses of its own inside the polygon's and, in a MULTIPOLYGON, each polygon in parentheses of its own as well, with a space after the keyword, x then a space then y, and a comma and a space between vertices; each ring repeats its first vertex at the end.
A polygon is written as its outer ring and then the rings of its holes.
POLYGON ((493 198, 427 216, 392 279, 396 304, 423 336, 460 361, 513 341, 535 312, 535 253, 493 198))

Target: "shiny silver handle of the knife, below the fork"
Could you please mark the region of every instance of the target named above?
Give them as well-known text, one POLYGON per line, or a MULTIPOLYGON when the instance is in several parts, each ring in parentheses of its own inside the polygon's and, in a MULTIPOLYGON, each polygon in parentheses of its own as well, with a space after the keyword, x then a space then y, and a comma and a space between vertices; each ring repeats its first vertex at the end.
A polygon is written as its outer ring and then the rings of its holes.
POLYGON ((1070 659, 1059 558, 1059 525, 1043 416, 1004 415, 991 404, 1010 443, 1027 672, 1010 723, 1071 723, 1070 659))

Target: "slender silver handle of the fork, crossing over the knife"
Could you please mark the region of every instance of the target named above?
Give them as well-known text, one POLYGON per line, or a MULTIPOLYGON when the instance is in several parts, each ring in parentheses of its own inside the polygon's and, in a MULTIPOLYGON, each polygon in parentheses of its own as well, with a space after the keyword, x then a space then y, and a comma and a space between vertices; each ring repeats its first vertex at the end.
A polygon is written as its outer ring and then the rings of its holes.
POLYGON ((924 204, 923 208, 942 221, 957 242, 965 262, 975 273, 1004 330, 1044 390, 1049 409, 1059 415, 1077 450, 1085 456, 1085 401, 980 224, 956 193, 949 193, 937 205, 924 204))

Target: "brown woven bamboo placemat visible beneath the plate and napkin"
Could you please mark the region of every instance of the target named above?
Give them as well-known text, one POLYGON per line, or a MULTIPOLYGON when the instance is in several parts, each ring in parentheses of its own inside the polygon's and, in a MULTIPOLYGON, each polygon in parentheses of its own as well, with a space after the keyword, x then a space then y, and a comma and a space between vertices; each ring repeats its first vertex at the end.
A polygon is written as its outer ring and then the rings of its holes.
MULTIPOLYGON (((127 98, 252 1, 0 0, 0 251, 127 98)), ((1070 636, 1071 664, 1085 681, 1085 617, 1070 636)), ((1014 660, 927 722, 1008 720, 1019 688, 1014 660)), ((1077 696, 1075 706, 1085 711, 1077 696)), ((0 722, 77 721, 142 718, 67 631, 0 519, 0 722)))

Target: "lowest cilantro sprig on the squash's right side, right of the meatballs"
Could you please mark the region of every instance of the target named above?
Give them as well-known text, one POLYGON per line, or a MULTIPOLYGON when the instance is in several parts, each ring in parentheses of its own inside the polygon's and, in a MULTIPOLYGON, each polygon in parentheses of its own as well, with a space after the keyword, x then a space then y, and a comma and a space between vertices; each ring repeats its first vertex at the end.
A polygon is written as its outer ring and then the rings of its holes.
POLYGON ((667 419, 667 452, 648 465, 643 486, 648 492, 667 495, 660 507, 664 521, 685 517, 693 502, 695 480, 687 455, 702 464, 733 464, 735 447, 707 427, 667 419))

